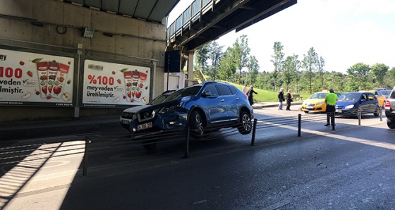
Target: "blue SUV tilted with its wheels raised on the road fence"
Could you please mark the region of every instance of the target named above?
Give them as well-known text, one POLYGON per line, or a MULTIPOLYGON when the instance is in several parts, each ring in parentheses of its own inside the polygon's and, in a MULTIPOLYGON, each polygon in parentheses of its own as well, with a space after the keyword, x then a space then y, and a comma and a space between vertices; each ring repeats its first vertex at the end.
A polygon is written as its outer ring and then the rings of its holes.
MULTIPOLYGON (((154 132, 190 127, 190 135, 202 138, 211 128, 238 128, 245 135, 252 129, 253 107, 234 85, 204 82, 171 94, 161 104, 141 109, 130 121, 130 132, 154 132)), ((144 145, 145 149, 156 144, 144 145)))

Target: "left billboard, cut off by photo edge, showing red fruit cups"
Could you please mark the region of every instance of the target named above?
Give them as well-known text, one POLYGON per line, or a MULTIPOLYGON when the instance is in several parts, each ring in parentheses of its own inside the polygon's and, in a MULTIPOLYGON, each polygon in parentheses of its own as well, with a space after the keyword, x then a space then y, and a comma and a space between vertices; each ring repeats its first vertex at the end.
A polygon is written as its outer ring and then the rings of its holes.
POLYGON ((75 106, 73 56, 0 48, 0 105, 75 106))

